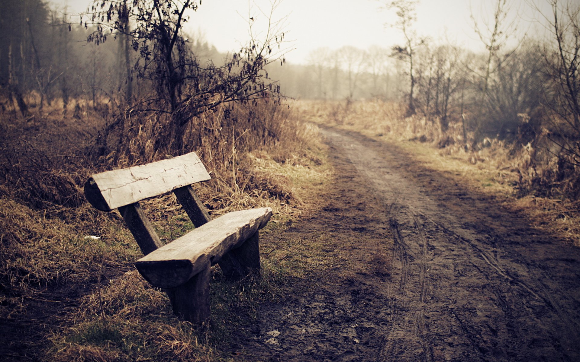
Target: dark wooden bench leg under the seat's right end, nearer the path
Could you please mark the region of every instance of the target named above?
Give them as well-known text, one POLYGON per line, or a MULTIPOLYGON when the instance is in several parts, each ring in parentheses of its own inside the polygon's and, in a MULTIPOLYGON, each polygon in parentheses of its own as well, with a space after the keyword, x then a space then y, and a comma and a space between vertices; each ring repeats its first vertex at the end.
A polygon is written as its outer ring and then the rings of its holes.
POLYGON ((259 270, 260 252, 258 232, 256 231, 240 247, 230 250, 229 253, 223 255, 218 264, 222 268, 224 275, 231 280, 242 279, 251 270, 259 270))

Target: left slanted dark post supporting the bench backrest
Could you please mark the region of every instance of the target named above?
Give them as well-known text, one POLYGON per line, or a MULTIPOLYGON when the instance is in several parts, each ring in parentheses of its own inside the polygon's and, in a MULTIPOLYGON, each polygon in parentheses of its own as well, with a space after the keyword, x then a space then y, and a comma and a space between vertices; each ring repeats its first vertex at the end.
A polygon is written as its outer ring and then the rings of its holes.
POLYGON ((143 255, 147 255, 161 247, 161 240, 139 203, 119 206, 119 213, 125 220, 129 231, 135 237, 135 241, 139 244, 143 255))

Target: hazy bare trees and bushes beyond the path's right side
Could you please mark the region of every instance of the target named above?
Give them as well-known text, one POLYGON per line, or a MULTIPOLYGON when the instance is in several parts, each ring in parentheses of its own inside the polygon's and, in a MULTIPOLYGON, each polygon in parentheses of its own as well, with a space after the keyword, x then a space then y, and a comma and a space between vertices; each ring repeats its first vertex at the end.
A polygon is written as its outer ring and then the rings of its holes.
MULTIPOLYGON (((422 115, 443 133, 451 122, 463 123, 479 142, 485 137, 519 140, 525 145, 540 134, 559 140, 580 165, 580 5, 548 0, 552 12, 538 13, 546 38, 516 41, 517 21, 509 3, 495 1, 487 28, 474 36, 485 50, 475 53, 413 31, 414 2, 389 2, 404 33, 403 44, 389 48, 323 47, 310 53, 307 65, 271 70, 282 93, 321 100, 400 101, 406 116, 422 115)), ((492 4, 490 4, 491 6, 492 4)))

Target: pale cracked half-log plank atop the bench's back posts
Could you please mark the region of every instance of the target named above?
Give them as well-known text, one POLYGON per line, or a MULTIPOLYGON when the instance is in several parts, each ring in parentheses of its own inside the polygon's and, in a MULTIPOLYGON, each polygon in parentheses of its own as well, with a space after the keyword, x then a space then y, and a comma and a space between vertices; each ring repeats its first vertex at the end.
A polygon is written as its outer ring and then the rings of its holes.
POLYGON ((191 152, 142 166, 94 174, 85 184, 85 196, 97 209, 111 211, 210 179, 204 164, 191 152))

